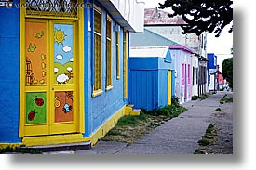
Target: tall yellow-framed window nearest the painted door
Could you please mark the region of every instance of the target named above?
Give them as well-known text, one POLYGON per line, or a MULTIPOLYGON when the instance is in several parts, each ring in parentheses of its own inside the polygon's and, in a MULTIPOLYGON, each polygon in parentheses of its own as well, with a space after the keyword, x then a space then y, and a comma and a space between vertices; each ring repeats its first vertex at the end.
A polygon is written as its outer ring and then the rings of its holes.
POLYGON ((94 9, 94 85, 92 97, 99 96, 102 91, 102 10, 100 7, 93 5, 94 9), (97 22, 100 20, 100 23, 97 22), (100 24, 98 28, 97 24, 100 24))

